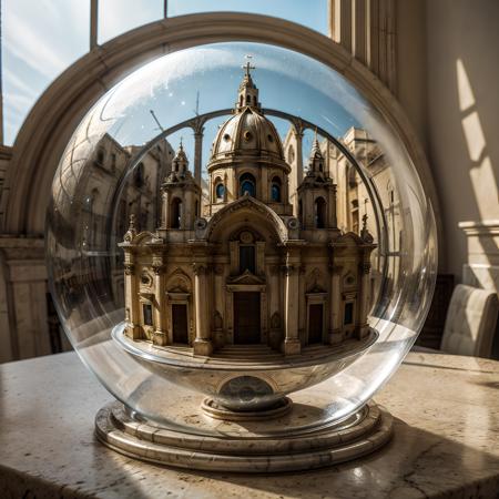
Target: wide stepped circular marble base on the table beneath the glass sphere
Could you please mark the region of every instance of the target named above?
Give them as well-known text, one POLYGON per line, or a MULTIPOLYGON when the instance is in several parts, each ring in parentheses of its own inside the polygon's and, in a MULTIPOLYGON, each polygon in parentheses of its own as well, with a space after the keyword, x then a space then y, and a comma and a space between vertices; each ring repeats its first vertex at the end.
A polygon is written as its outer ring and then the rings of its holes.
MULTIPOLYGON (((200 411, 198 406, 193 410, 200 411)), ((294 414, 301 417, 299 411, 291 410, 286 419, 293 419, 294 414)), ((342 421, 332 424, 318 418, 306 429, 286 431, 283 427, 278 436, 266 431, 268 422, 264 420, 251 421, 251 431, 246 421, 231 425, 230 437, 210 436, 198 431, 200 428, 190 432, 173 425, 136 419, 120 403, 104 406, 95 417, 99 440, 126 456, 180 468, 245 473, 335 465, 375 451, 391 435, 390 414, 374 403, 342 421)))

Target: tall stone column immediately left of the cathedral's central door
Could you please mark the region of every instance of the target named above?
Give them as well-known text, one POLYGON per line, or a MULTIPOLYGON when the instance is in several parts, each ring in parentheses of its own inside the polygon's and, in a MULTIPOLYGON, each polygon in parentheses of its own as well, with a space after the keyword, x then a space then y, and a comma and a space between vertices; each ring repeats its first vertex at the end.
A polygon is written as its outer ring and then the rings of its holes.
POLYGON ((194 308, 196 317, 196 337, 194 355, 208 356, 213 352, 210 338, 210 318, 207 316, 207 265, 195 263, 194 271, 194 308))

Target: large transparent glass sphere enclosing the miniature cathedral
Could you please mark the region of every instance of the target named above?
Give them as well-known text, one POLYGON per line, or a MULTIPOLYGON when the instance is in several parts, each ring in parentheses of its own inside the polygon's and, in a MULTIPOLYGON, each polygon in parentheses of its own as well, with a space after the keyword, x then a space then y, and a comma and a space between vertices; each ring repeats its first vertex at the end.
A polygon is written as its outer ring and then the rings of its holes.
POLYGON ((106 92, 47 217, 74 349, 130 410, 183 427, 182 398, 258 410, 326 379, 330 420, 359 409, 415 343, 436 257, 428 197, 381 114, 335 70, 258 43, 174 52, 106 92), (224 222, 243 202, 261 218, 224 222))

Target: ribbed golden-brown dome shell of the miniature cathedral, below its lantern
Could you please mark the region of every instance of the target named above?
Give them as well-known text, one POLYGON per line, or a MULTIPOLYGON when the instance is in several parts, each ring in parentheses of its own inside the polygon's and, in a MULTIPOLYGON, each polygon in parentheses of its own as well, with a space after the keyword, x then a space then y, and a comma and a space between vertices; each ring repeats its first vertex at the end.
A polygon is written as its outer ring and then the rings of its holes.
POLYGON ((256 108, 246 106, 227 120, 213 142, 212 161, 228 155, 271 156, 284 161, 283 144, 274 124, 256 108))

